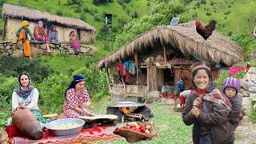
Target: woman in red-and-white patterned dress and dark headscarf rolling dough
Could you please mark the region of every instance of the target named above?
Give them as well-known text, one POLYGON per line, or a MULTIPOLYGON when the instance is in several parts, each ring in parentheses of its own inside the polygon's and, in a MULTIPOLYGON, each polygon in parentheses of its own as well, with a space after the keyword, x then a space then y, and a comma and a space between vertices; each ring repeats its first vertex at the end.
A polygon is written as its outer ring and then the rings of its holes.
POLYGON ((94 115, 86 109, 90 106, 90 96, 85 88, 85 83, 85 78, 82 75, 74 75, 70 86, 66 89, 63 111, 67 118, 94 115))

